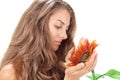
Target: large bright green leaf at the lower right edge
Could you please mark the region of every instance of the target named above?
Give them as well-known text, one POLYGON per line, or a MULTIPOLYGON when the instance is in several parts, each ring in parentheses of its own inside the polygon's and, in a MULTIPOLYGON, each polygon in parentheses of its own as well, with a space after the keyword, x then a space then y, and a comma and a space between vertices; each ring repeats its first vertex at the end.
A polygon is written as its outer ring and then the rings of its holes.
POLYGON ((115 70, 115 69, 111 69, 106 73, 107 76, 114 78, 114 79, 119 79, 120 80, 120 72, 115 70))

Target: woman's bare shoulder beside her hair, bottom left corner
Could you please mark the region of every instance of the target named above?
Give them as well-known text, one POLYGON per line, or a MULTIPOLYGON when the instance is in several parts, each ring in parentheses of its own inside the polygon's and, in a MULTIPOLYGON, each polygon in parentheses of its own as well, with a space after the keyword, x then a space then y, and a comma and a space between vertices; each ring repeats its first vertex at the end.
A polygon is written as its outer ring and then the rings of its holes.
POLYGON ((7 64, 0 70, 0 80, 16 80, 15 70, 12 64, 7 64))

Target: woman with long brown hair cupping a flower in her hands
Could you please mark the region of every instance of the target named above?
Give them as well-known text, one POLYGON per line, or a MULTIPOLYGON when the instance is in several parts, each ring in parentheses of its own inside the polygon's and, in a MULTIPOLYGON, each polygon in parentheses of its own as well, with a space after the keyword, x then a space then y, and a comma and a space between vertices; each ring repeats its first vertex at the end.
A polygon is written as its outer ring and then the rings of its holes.
POLYGON ((68 67, 76 20, 62 0, 35 0, 25 11, 0 66, 0 80, 78 80, 96 64, 68 67))

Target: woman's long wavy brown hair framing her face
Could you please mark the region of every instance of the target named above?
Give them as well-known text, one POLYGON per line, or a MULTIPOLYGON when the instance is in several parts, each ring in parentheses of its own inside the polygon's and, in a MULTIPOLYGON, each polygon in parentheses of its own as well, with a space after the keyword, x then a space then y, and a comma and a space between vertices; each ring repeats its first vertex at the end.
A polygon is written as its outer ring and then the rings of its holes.
POLYGON ((22 15, 0 68, 12 63, 17 80, 63 80, 64 60, 74 46, 75 30, 75 14, 68 3, 62 0, 34 0, 22 15), (48 21, 59 8, 70 13, 70 25, 68 38, 62 41, 57 51, 53 51, 48 21))

